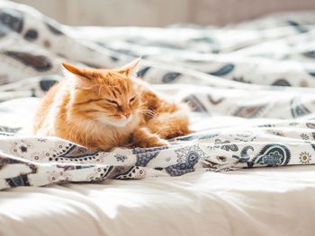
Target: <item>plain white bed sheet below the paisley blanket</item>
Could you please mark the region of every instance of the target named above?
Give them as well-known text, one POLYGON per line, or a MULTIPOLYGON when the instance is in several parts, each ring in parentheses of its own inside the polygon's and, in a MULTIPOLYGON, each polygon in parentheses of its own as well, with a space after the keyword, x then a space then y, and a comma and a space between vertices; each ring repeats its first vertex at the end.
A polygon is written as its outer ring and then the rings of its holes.
POLYGON ((313 235, 315 166, 19 187, 0 235, 313 235))

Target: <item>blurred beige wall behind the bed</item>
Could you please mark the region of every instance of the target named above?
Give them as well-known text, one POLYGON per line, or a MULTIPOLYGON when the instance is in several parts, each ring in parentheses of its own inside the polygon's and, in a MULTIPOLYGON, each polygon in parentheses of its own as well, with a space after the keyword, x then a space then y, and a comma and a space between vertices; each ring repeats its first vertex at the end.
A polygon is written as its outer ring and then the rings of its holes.
POLYGON ((15 0, 70 25, 224 25, 266 13, 315 10, 315 0, 15 0))

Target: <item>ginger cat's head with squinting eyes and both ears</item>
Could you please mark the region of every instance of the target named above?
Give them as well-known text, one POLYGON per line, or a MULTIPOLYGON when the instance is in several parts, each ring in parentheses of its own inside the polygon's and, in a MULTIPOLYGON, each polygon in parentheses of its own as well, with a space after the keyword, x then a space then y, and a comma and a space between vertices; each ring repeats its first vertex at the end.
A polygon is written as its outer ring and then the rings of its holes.
POLYGON ((139 116, 141 104, 132 80, 138 63, 139 59, 116 69, 78 68, 62 63, 66 77, 73 82, 69 103, 72 114, 112 127, 124 127, 139 116))

